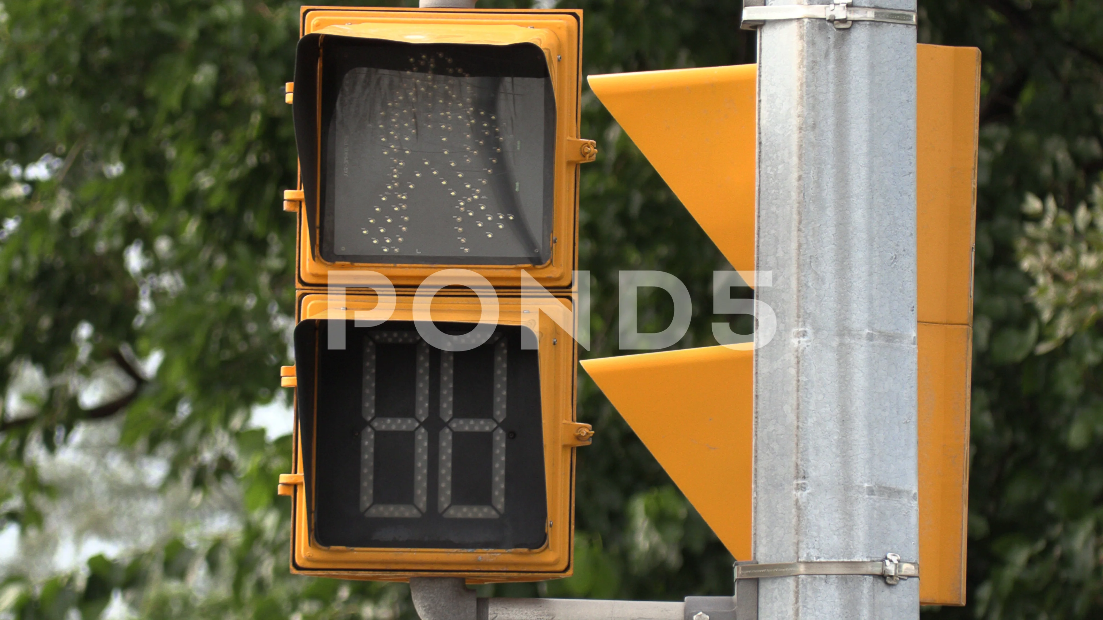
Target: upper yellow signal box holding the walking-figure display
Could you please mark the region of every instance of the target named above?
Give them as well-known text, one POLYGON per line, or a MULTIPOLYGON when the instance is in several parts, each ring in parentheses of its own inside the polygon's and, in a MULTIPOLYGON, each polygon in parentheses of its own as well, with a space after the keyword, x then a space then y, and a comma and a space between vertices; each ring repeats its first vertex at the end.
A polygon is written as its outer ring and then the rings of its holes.
POLYGON ((575 268, 581 11, 303 8, 299 282, 575 268))

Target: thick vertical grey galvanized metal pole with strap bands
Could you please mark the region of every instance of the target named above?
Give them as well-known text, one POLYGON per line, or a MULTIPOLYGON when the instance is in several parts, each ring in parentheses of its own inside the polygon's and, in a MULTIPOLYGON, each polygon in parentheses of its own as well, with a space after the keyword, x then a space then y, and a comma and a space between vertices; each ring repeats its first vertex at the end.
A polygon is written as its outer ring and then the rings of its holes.
MULTIPOLYGON (((828 19, 759 30, 754 557, 917 562, 915 28, 828 19)), ((918 618, 919 580, 763 578, 759 617, 918 618)))

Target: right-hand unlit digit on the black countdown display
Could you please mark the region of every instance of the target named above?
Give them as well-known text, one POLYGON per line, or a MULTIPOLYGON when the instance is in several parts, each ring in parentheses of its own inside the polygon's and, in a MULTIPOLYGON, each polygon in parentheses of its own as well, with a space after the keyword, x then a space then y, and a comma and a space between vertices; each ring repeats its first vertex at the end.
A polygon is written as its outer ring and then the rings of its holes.
POLYGON ((505 512, 505 420, 506 340, 494 343, 494 419, 452 418, 452 353, 440 352, 440 419, 448 423, 440 430, 440 458, 437 510, 446 519, 497 519, 505 512), (452 504, 452 432, 492 432, 491 504, 452 504))

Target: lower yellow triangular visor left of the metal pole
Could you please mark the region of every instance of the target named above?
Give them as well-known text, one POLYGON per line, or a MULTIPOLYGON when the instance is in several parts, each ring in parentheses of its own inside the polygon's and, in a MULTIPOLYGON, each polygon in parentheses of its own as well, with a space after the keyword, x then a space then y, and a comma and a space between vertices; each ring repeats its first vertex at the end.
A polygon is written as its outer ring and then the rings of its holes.
POLYGON ((582 361, 736 559, 751 558, 751 361, 726 346, 582 361))

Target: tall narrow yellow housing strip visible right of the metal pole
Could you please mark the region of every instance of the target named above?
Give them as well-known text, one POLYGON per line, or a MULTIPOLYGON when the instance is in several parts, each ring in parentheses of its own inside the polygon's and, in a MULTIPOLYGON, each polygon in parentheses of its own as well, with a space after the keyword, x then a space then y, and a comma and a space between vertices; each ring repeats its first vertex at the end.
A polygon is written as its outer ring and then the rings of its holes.
POLYGON ((981 51, 917 61, 919 598, 965 605, 981 51))

